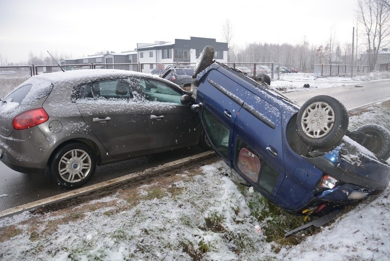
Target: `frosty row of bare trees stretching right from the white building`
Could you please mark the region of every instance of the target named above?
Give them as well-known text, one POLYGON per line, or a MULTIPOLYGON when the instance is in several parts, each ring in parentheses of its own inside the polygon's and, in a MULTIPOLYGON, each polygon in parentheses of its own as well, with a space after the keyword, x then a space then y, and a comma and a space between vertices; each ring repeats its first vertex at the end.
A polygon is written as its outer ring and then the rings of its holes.
POLYGON ((315 63, 368 64, 372 71, 379 51, 389 44, 390 0, 357 0, 353 28, 353 44, 352 41, 337 41, 336 27, 332 26, 328 40, 319 46, 310 44, 304 37, 296 45, 254 42, 240 47, 234 45, 233 26, 226 20, 222 26, 222 41, 228 43, 229 61, 273 61, 301 70, 312 70, 315 63))

